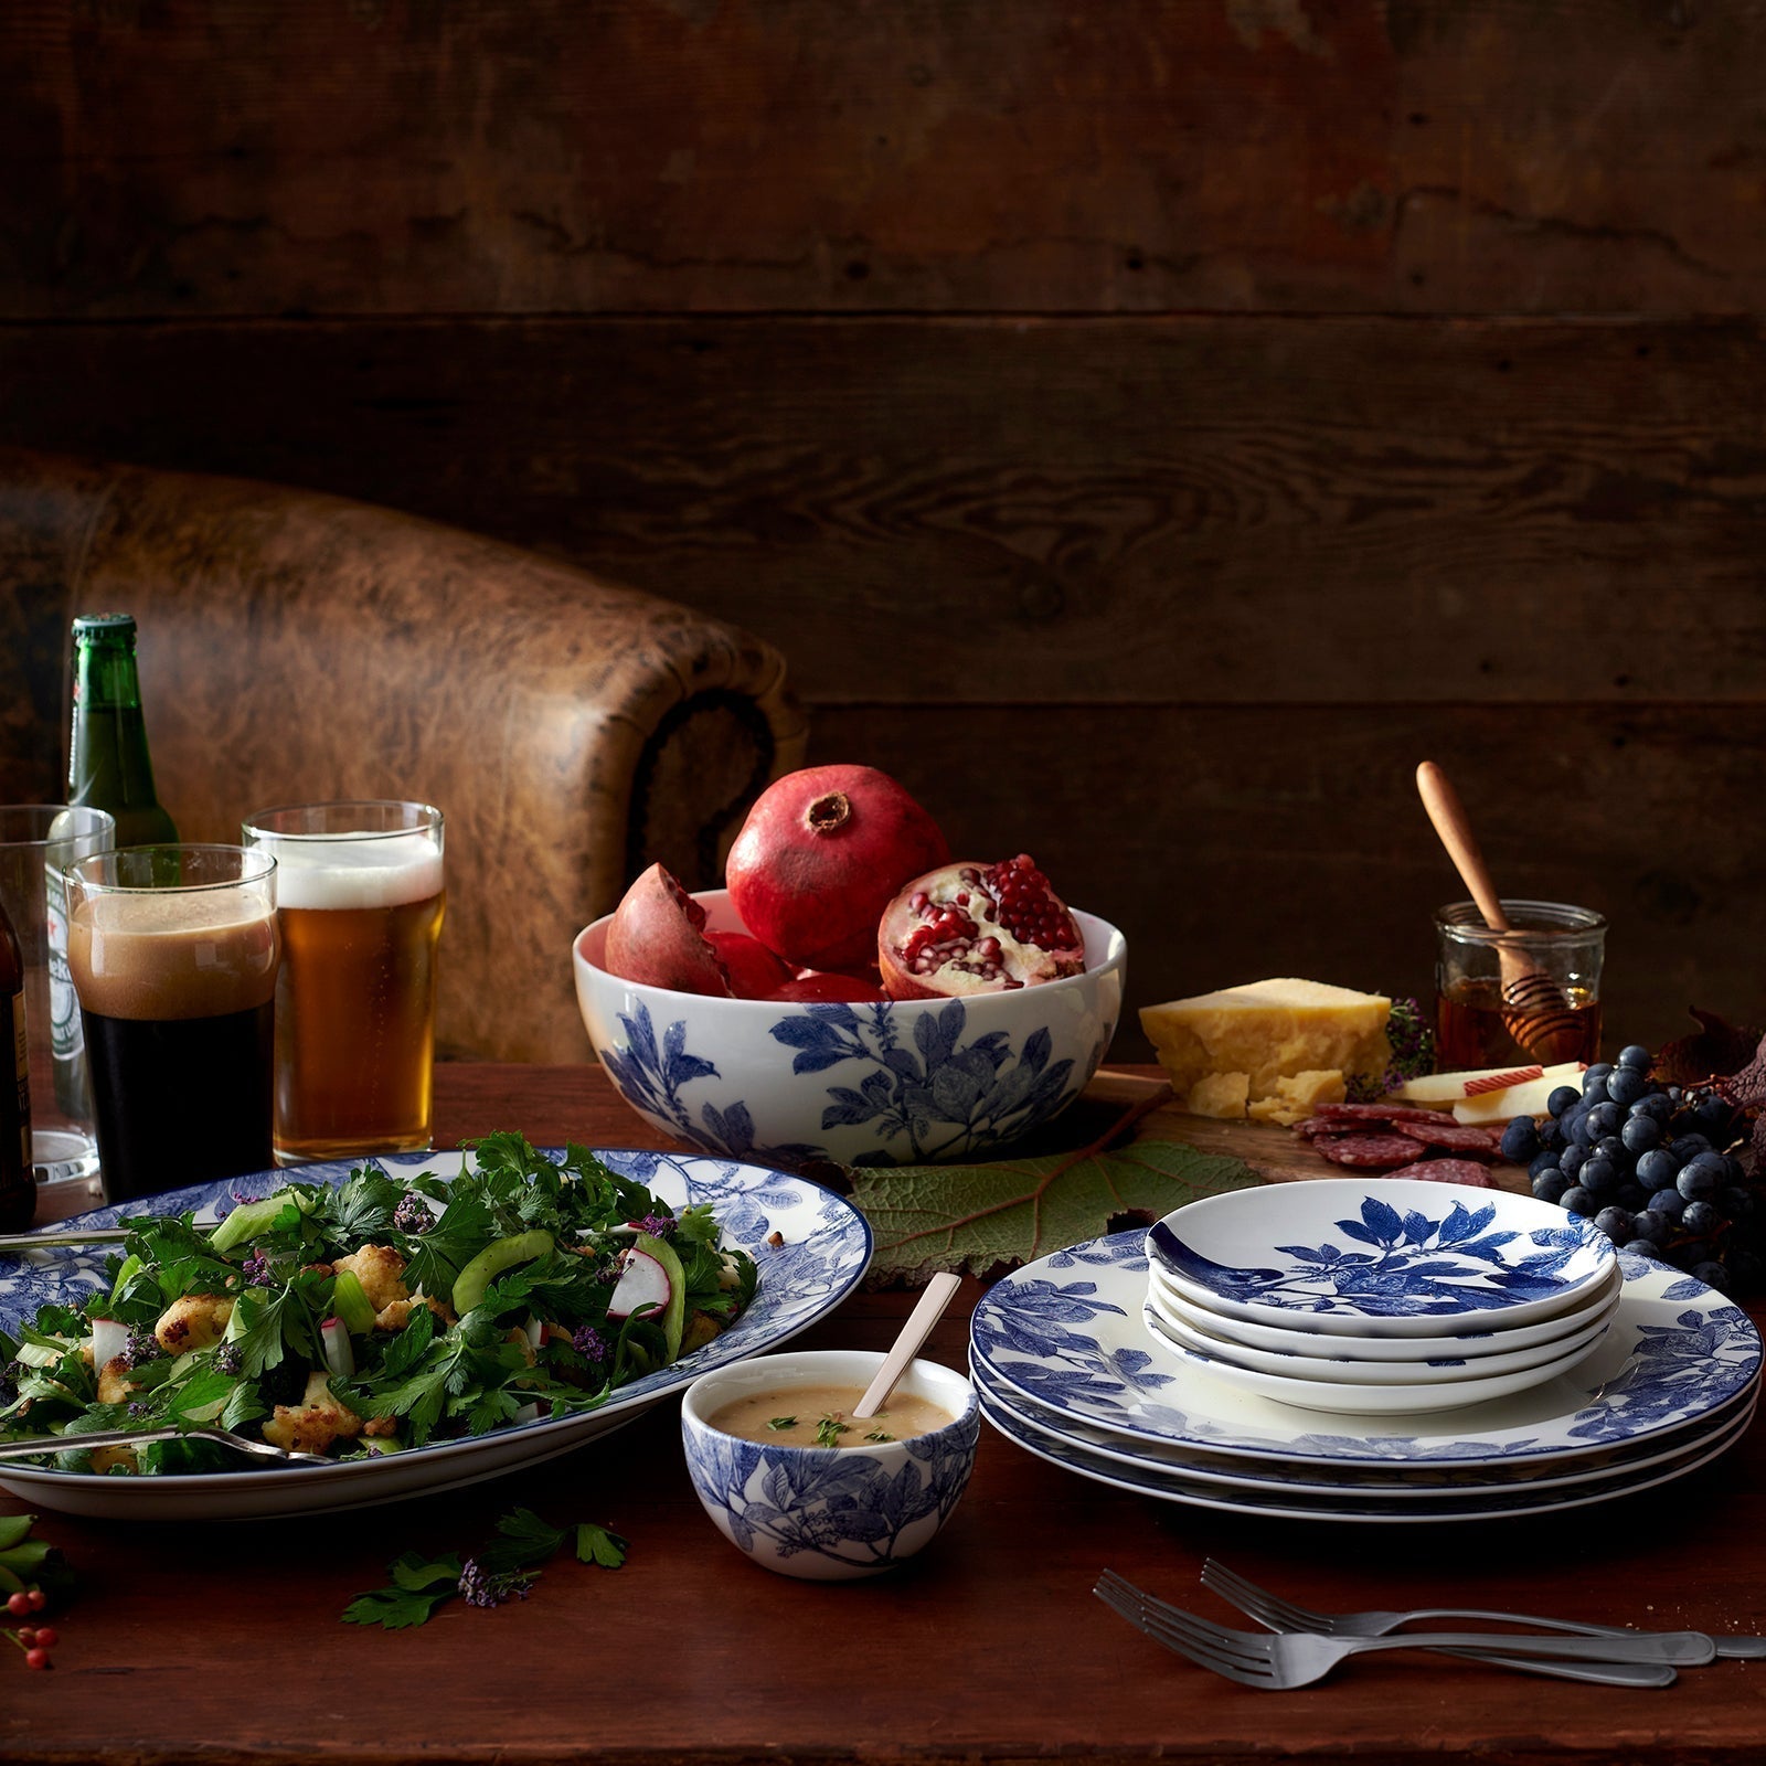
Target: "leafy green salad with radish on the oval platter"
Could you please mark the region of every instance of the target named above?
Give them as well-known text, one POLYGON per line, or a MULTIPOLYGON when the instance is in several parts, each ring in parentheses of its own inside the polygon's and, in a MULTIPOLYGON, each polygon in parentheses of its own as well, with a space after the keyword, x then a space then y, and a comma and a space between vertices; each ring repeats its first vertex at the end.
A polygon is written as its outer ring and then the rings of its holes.
POLYGON ((443 1181, 376 1166, 291 1181, 219 1226, 127 1222, 108 1287, 0 1330, 0 1441, 58 1434, 78 1471, 237 1468, 196 1438, 79 1448, 92 1430, 221 1427, 360 1459, 604 1404, 728 1328, 754 1259, 708 1206, 671 1210, 570 1146, 470 1143, 443 1181))

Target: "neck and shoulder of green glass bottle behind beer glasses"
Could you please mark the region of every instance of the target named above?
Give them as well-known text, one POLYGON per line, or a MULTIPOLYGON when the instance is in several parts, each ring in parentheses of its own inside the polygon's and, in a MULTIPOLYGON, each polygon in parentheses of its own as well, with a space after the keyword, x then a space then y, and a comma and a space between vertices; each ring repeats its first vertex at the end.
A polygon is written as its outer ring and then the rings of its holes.
POLYGON ((178 837, 154 795, 131 613, 83 613, 74 620, 67 802, 108 809, 117 818, 118 846, 170 846, 178 837))

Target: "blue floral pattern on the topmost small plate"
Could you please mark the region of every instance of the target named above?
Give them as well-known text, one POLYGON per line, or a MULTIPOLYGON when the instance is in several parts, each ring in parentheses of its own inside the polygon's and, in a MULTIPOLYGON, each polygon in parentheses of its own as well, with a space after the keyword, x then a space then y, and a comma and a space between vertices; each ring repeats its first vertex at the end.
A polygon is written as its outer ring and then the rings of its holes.
POLYGON ((1337 1220, 1347 1249, 1275 1245, 1282 1268, 1213 1263, 1167 1222, 1148 1245, 1174 1275, 1240 1305, 1339 1317, 1452 1317, 1549 1300, 1598 1280, 1612 1268, 1612 1241, 1593 1222, 1565 1215, 1563 1226, 1519 1233, 1492 1227, 1496 1204, 1455 1199, 1441 1215, 1399 1213, 1381 1196, 1363 1196, 1360 1217, 1337 1220))

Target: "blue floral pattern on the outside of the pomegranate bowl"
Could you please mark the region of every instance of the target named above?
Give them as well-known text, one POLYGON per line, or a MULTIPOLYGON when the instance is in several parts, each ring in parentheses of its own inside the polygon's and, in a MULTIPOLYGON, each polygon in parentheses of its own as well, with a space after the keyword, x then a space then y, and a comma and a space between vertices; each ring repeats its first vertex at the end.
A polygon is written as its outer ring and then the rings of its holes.
POLYGON ((839 1136, 835 1146, 758 1146, 745 1098, 701 1100, 696 1113, 685 1093, 722 1074, 687 1047, 685 1019, 659 1037, 643 1001, 620 1014, 623 1047, 602 1049, 600 1061, 629 1104, 708 1151, 763 1153, 789 1164, 839 1158, 894 1166, 982 1153, 1019 1139, 1072 1102, 1109 1040, 1095 1045, 1090 1063, 1054 1060, 1047 1024, 1017 1049, 1003 1030, 964 1042, 968 1010, 961 1000, 936 1012, 917 1010, 911 1023, 904 1040, 894 1001, 823 1003, 781 1017, 766 1031, 795 1051, 795 1077, 839 1070, 841 1083, 826 1086, 821 1109, 821 1130, 839 1136))

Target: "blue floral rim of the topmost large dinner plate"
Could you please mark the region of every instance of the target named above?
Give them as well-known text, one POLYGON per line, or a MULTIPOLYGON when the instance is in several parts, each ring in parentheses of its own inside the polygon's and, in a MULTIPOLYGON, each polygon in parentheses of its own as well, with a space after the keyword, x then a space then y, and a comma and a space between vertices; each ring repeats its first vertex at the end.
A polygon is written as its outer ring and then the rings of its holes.
POLYGON ((1460 1438, 1289 1432, 1282 1406, 1240 1395, 1222 1404, 1219 1388, 1189 1376, 1174 1358, 1148 1351, 1139 1321, 1144 1247, 1146 1234, 1118 1233, 996 1282, 970 1324, 977 1376, 1053 1413, 1151 1445, 1377 1464, 1489 1462, 1563 1453, 1589 1441, 1632 1441, 1708 1416, 1761 1374, 1761 1339, 1747 1314, 1699 1282, 1687 1293, 1690 1279, 1674 1270, 1623 1256, 1619 1312, 1598 1353, 1575 1369, 1589 1390, 1572 1415, 1552 1415, 1540 1409, 1547 1399, 1522 1393, 1496 1400, 1512 1406, 1515 1422, 1460 1438), (1063 1280, 1074 1268, 1084 1273, 1063 1280))

